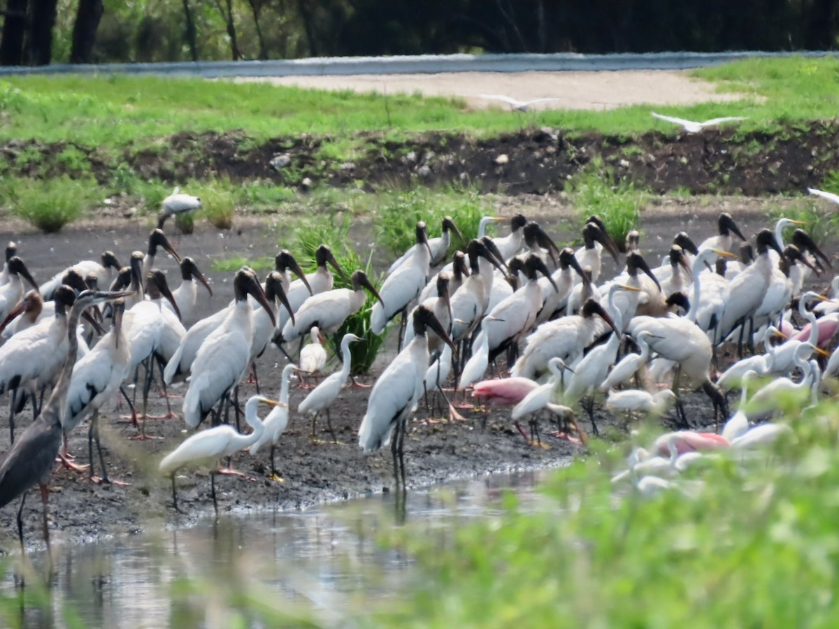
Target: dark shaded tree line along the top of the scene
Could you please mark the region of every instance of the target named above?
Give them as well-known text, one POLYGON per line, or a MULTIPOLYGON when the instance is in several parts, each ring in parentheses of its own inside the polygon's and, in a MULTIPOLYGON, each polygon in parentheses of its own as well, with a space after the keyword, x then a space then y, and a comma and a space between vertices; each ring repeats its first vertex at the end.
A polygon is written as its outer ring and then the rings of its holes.
POLYGON ((4 2, 0 65, 839 44, 836 0, 4 2))

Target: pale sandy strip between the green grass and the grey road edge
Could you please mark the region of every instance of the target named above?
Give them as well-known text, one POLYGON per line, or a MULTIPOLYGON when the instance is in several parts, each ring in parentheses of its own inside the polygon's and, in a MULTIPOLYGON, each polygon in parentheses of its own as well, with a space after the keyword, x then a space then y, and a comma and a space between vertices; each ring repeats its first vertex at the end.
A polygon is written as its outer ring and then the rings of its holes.
POLYGON ((742 96, 717 93, 712 83, 680 70, 619 72, 449 72, 416 75, 274 76, 237 81, 270 81, 279 86, 321 90, 399 92, 425 96, 461 96, 471 107, 506 107, 481 94, 512 96, 519 101, 555 98, 534 108, 613 109, 626 105, 690 105, 732 101, 742 96))

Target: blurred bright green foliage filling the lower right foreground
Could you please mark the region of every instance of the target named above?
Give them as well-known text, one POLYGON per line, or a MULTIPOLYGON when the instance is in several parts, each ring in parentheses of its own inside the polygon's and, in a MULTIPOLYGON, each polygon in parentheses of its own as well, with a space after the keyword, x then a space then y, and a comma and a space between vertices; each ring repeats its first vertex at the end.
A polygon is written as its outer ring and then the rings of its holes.
POLYGON ((545 485, 543 510, 451 534, 396 529, 420 574, 373 626, 831 626, 839 569, 836 404, 800 413, 776 447, 723 451, 645 499, 597 449, 545 485))

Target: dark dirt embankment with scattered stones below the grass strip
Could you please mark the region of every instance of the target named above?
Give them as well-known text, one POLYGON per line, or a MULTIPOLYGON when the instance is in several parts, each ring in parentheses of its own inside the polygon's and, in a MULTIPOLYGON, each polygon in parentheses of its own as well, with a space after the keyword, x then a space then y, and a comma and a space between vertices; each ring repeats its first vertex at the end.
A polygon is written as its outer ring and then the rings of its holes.
MULTIPOLYGON (((0 145, 5 172, 34 177, 91 172, 111 181, 117 167, 143 179, 177 183, 227 177, 269 180, 277 185, 361 185, 365 190, 409 185, 469 185, 483 192, 545 195, 601 160, 612 177, 658 193, 762 196, 801 192, 839 171, 839 126, 812 122, 777 133, 740 133, 736 128, 696 134, 649 132, 635 138, 600 133, 570 135, 561 129, 523 129, 477 140, 460 134, 425 133, 393 142, 365 133, 352 162, 325 159, 330 138, 274 138, 254 146, 242 133, 179 133, 165 148, 101 148, 73 145, 84 159, 68 161, 66 143, 10 141, 0 145)), ((76 152, 74 152, 76 153, 76 152)))

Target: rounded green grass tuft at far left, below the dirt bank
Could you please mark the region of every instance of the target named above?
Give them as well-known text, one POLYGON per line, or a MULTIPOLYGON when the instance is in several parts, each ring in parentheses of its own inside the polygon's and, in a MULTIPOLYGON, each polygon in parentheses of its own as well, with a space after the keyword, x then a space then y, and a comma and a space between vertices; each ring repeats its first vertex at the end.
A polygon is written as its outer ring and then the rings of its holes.
POLYGON ((94 201, 96 182, 70 179, 3 179, 3 205, 46 233, 77 221, 94 201))

